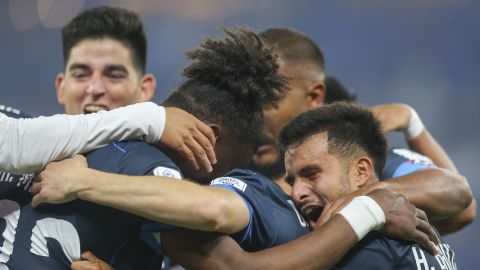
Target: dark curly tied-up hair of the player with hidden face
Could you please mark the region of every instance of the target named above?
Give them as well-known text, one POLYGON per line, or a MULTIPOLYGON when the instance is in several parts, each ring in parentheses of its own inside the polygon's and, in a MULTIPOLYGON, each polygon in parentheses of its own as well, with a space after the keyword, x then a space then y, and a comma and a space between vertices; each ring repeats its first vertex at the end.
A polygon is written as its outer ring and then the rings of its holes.
POLYGON ((263 108, 276 106, 286 78, 277 73, 275 55, 252 30, 223 29, 226 37, 206 39, 190 51, 187 78, 163 103, 184 109, 199 119, 218 123, 243 146, 256 147, 263 133, 263 108))

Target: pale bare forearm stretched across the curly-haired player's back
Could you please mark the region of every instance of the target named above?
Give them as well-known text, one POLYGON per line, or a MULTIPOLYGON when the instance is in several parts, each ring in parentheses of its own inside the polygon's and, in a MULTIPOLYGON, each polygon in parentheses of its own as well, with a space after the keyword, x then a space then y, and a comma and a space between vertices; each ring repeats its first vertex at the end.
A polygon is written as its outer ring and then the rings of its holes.
MULTIPOLYGON (((213 188, 166 177, 124 176, 90 169, 78 177, 81 179, 75 181, 74 190, 83 200, 185 228, 228 233, 238 230, 223 226, 221 209, 222 202, 228 200, 234 207, 238 200, 226 199, 228 193, 213 188)), ((246 208, 241 199, 240 203, 239 207, 246 208)))

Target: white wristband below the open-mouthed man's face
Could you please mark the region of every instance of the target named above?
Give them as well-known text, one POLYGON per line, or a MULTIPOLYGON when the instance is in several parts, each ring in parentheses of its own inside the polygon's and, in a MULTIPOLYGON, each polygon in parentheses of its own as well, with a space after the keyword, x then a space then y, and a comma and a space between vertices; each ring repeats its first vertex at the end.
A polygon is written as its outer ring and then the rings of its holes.
POLYGON ((339 212, 352 227, 360 241, 372 230, 385 224, 385 213, 378 203, 368 196, 358 196, 339 212))

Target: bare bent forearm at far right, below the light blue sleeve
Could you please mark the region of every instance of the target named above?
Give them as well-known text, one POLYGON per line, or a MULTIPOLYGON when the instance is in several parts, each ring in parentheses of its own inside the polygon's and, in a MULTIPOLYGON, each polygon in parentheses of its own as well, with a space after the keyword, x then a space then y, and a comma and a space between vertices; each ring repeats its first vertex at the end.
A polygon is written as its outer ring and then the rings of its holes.
POLYGON ((456 215, 472 201, 465 178, 445 169, 426 169, 375 185, 405 195, 432 220, 456 215))

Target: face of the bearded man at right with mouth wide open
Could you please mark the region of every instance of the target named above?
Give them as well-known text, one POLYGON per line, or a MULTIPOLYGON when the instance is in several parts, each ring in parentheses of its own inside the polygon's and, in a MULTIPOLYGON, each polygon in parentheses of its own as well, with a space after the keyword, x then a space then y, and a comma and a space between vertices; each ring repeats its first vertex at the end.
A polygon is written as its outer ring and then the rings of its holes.
POLYGON ((354 191, 348 166, 328 152, 327 132, 317 133, 285 154, 287 182, 292 198, 310 227, 314 227, 329 202, 354 191))

